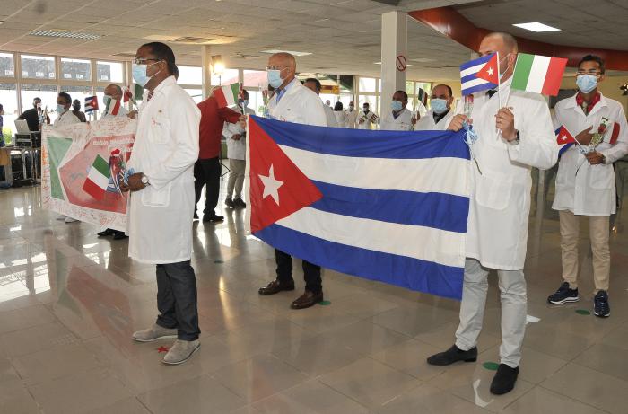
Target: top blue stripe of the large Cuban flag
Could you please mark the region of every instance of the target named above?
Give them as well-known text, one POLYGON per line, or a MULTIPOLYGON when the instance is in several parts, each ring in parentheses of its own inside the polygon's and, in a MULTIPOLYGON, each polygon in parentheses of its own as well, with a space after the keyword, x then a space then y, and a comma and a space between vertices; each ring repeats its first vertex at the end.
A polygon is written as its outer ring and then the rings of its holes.
POLYGON ((465 131, 367 131, 311 127, 275 119, 251 119, 277 145, 292 146, 319 154, 364 158, 463 158, 469 159, 465 131))

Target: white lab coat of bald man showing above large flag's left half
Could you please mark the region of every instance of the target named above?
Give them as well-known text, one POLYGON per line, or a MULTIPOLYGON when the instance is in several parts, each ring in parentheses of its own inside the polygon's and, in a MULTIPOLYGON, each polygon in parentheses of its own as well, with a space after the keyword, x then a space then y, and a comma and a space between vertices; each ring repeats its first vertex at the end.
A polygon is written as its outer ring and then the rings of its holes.
POLYGON ((277 102, 276 96, 268 102, 268 111, 274 119, 295 124, 327 127, 327 116, 323 101, 318 95, 301 84, 294 82, 277 102))

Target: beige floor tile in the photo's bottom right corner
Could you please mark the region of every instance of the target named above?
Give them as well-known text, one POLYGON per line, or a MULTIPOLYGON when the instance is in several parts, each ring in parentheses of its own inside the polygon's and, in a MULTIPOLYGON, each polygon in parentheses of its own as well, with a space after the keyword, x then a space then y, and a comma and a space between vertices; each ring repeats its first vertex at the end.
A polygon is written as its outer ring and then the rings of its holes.
POLYGON ((628 382, 576 364, 564 366, 541 386, 612 413, 628 407, 628 382))

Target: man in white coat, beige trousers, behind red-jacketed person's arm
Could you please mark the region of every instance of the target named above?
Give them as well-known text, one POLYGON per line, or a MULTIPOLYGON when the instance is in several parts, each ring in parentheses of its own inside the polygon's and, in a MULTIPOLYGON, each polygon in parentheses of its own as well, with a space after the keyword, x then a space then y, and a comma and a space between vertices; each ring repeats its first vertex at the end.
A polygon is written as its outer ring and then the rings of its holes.
MULTIPOLYGON (((255 110, 251 110, 248 105, 249 92, 242 89, 241 98, 233 110, 242 115, 255 115, 255 110)), ((247 203, 242 200, 242 186, 247 167, 247 131, 240 126, 240 123, 225 123, 222 135, 227 140, 227 157, 231 170, 227 181, 227 198, 224 200, 224 204, 230 208, 246 208, 247 203)))

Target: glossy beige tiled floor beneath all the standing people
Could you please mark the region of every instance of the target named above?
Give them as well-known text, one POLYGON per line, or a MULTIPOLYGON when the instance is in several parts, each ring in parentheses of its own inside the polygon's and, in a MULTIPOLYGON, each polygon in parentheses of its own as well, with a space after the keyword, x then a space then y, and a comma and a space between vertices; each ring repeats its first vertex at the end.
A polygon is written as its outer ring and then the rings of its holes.
POLYGON ((453 341, 457 302, 325 271, 331 304, 292 311, 301 271, 296 292, 257 295, 274 277, 273 251, 245 235, 241 211, 225 210, 222 225, 195 225, 202 348, 163 366, 169 341, 130 339, 156 314, 153 267, 92 225, 57 222, 39 188, 3 191, 0 413, 626 413, 626 213, 614 218, 612 315, 600 320, 575 312, 592 306, 586 225, 584 300, 545 304, 561 271, 547 205, 533 203, 526 266, 528 313, 540 321, 528 324, 516 389, 496 397, 484 368, 500 344, 494 275, 478 362, 428 366, 453 341))

